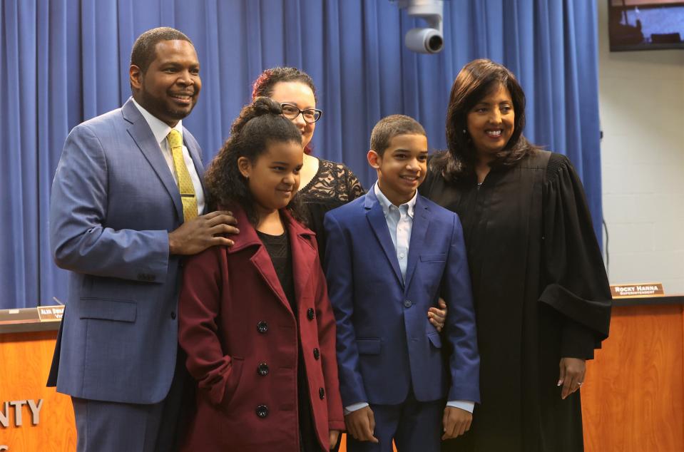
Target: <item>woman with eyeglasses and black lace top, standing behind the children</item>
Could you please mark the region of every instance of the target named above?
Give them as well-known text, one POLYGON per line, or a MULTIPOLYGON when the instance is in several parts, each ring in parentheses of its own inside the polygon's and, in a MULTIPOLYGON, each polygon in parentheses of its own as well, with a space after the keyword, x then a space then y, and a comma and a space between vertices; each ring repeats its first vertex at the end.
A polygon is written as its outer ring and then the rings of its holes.
POLYGON ((305 205, 307 226, 316 233, 318 252, 324 262, 325 213, 363 195, 364 189, 347 165, 311 155, 311 138, 323 112, 316 108, 316 87, 307 73, 287 67, 266 69, 254 82, 252 99, 259 96, 280 103, 282 115, 302 133, 305 155, 298 195, 305 205))

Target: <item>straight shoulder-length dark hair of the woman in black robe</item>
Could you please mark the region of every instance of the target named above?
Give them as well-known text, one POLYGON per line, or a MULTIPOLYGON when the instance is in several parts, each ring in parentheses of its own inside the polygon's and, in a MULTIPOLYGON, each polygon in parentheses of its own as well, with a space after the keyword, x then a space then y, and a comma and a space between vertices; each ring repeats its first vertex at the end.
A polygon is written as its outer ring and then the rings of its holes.
POLYGON ((491 167, 511 166, 529 155, 535 145, 522 135, 525 127, 525 93, 516 77, 505 66, 481 58, 466 64, 451 86, 446 108, 446 145, 448 152, 432 159, 431 170, 446 180, 474 174, 476 149, 468 132, 468 113, 487 95, 504 86, 511 93, 515 122, 513 135, 495 155, 491 167))

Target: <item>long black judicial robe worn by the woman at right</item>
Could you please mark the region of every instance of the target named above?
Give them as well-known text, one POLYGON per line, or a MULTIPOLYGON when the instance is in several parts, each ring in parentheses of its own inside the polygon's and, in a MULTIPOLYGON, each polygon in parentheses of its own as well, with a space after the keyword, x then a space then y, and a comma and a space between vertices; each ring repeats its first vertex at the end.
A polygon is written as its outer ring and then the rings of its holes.
POLYGON ((471 430, 443 450, 583 450, 580 393, 561 400, 558 363, 593 358, 611 292, 571 163, 535 150, 479 188, 430 170, 420 192, 461 218, 481 356, 471 430))

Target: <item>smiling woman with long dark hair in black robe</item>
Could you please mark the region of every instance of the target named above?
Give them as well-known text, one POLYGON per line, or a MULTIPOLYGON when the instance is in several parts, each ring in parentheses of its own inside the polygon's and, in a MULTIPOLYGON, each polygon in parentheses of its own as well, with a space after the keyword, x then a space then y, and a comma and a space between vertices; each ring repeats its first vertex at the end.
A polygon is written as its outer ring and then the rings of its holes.
POLYGON ((583 450, 578 389, 608 337, 611 292, 581 182, 524 138, 524 109, 504 66, 464 66, 449 150, 420 190, 461 218, 481 356, 481 405, 444 451, 583 450))

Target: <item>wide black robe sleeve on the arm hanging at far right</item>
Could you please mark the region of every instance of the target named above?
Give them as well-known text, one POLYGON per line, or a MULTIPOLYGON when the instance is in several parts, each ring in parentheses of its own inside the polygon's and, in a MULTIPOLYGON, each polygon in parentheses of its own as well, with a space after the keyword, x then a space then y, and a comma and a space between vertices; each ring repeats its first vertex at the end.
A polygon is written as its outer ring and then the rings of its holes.
POLYGON ((593 358, 608 337, 611 289, 582 183, 570 161, 552 154, 544 202, 544 287, 539 300, 563 314, 561 356, 593 358))

